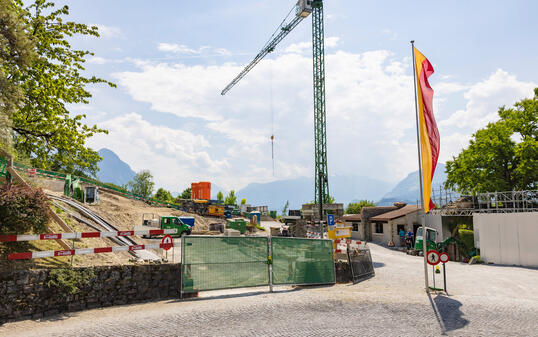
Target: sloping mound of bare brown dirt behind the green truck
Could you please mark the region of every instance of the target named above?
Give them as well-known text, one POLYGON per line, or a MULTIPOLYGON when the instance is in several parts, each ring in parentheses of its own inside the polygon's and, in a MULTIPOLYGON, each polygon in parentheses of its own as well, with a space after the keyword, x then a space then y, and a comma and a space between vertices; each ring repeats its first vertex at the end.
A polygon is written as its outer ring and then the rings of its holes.
POLYGON ((209 224, 223 222, 217 218, 205 218, 197 214, 182 212, 167 207, 155 207, 140 200, 124 198, 103 190, 99 191, 101 202, 99 205, 87 205, 98 213, 103 219, 121 229, 133 229, 142 224, 144 213, 155 215, 192 216, 195 218, 195 232, 207 231, 209 224))

